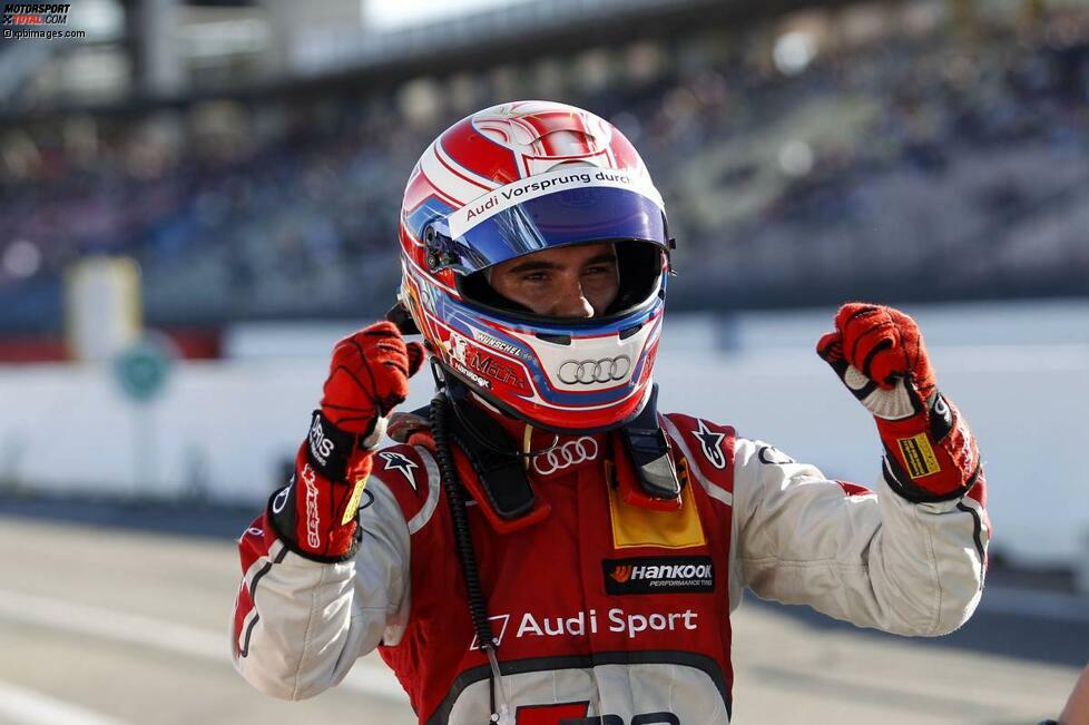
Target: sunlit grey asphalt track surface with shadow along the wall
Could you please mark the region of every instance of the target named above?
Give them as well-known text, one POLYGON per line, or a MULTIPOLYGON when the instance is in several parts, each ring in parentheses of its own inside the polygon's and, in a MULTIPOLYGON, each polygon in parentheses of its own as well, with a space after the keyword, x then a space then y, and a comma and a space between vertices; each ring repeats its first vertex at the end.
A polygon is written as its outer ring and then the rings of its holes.
MULTIPOLYGON (((303 703, 235 674, 227 532, 249 511, 48 503, 0 507, 0 723, 415 722, 373 657, 303 703)), ((734 630, 735 723, 1034 724, 1089 658, 1089 601, 993 587, 960 631, 914 640, 750 599, 734 630)))

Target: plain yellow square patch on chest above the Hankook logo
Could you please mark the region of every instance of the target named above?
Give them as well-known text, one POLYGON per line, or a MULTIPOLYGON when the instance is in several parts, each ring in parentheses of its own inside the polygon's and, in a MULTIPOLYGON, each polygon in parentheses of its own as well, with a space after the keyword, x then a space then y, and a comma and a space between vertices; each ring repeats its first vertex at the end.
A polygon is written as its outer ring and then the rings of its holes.
POLYGON ((625 503, 620 492, 609 486, 609 515, 612 519, 612 545, 617 549, 661 547, 685 549, 707 543, 691 487, 680 493, 677 511, 653 511, 625 503))

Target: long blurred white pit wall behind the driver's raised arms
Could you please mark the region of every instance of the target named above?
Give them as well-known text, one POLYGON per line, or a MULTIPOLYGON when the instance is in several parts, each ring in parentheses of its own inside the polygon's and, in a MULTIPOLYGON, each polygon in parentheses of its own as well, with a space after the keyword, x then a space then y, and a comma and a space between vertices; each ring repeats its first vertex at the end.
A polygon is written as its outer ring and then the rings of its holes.
MULTIPOLYGON (((941 389, 980 439, 995 550, 1073 564, 1087 546, 1089 303, 905 307, 941 389)), ((832 478, 873 482, 872 420, 812 346, 833 310, 667 316, 663 411, 735 425, 832 478)), ((104 365, 0 366, 0 497, 208 499, 259 508, 306 433, 326 355, 353 325, 245 325, 220 361, 175 365, 163 396, 122 398, 104 365)), ((426 369, 405 409, 431 396, 426 369)))

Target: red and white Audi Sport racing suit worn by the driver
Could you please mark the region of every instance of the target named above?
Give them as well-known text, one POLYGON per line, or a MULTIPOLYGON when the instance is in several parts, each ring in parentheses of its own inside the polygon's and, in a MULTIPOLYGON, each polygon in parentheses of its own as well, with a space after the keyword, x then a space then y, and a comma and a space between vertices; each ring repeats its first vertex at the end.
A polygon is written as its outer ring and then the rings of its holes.
MULTIPOLYGON (((469 501, 520 725, 727 723, 729 613, 745 587, 902 635, 941 635, 971 616, 989 538, 982 477, 960 499, 912 503, 884 473, 872 492, 730 428, 660 420, 686 473, 679 510, 626 502, 608 434, 562 437, 529 460, 550 508, 530 526, 500 532, 469 501)), ((302 699, 377 648, 420 723, 483 725, 489 667, 433 454, 379 451, 366 493, 354 560, 307 560, 263 519, 243 535, 235 666, 261 692, 302 699)))

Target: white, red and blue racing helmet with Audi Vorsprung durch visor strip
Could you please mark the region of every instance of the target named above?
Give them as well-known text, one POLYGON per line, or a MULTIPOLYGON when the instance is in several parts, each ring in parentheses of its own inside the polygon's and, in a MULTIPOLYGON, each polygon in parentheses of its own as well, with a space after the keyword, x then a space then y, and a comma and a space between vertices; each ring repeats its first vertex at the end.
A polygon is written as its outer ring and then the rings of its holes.
POLYGON ((443 131, 413 169, 401 303, 447 374, 485 401, 553 431, 607 430, 650 395, 670 244, 661 196, 611 124, 562 104, 503 104, 443 131), (619 267, 602 316, 534 315, 484 276, 590 242, 612 242, 619 267))

